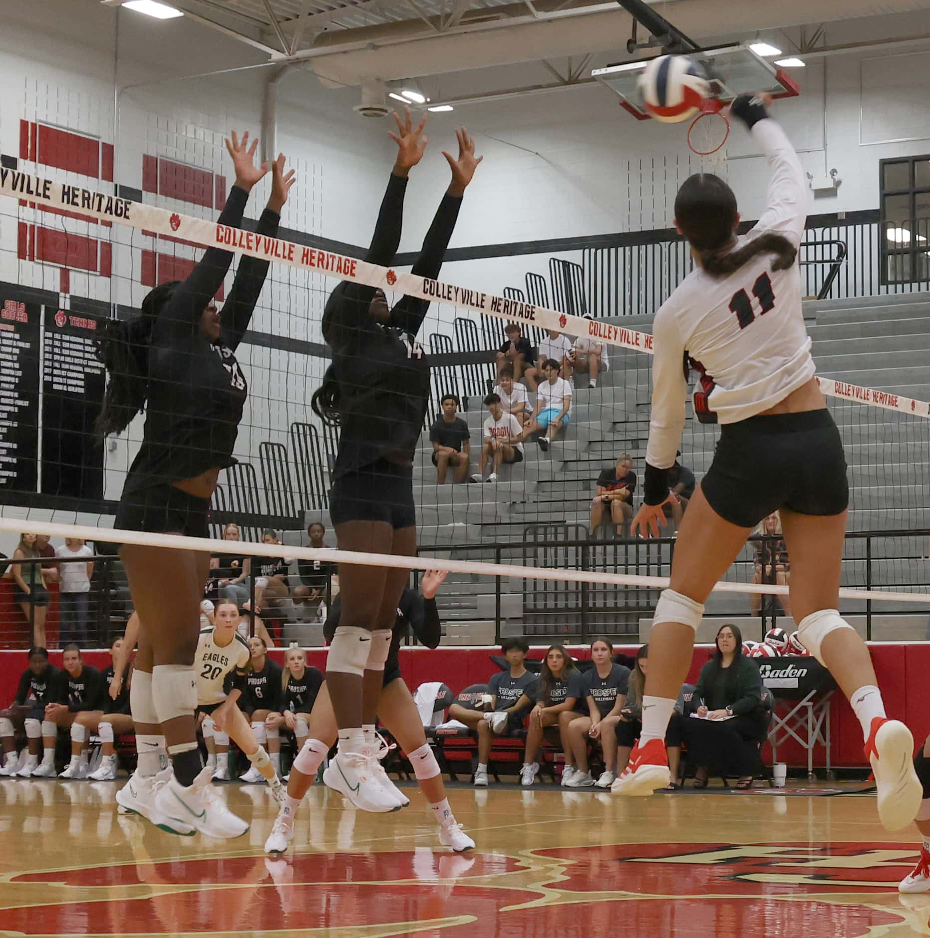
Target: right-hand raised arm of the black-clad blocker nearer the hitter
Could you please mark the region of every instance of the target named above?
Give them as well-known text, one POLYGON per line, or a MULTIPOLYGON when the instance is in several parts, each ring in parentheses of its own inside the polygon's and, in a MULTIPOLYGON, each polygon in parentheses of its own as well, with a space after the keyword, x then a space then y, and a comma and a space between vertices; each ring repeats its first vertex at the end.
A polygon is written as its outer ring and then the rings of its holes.
MULTIPOLYGON (((456 130, 458 138, 458 159, 443 150, 443 157, 448 160, 452 170, 452 182, 443 195, 443 201, 436 210, 433 223, 420 250, 420 256, 413 265, 414 277, 428 277, 435 280, 443 266, 445 250, 449 246, 458 220, 458 209, 462 204, 465 189, 472 182, 474 171, 484 157, 475 158, 474 141, 465 128, 456 130)), ((403 296, 397 306, 391 310, 391 324, 405 332, 416 335, 429 309, 429 301, 416 296, 403 296)))

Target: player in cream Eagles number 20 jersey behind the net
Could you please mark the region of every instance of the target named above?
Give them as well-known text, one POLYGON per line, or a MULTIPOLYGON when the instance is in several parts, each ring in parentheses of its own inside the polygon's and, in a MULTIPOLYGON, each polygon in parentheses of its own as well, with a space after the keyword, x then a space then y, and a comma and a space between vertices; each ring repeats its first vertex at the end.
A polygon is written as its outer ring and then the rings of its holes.
MULTIPOLYGON (((281 780, 278 779, 268 753, 256 740, 246 715, 238 706, 250 666, 251 651, 248 643, 236 631, 239 608, 235 601, 221 599, 214 619, 215 628, 201 629, 197 653, 194 656, 194 670, 197 672, 197 711, 204 714, 201 727, 203 741, 207 749, 217 756, 218 761, 214 778, 229 778, 227 769, 232 739, 268 782, 271 794, 280 801, 281 780), (232 688, 227 692, 231 682, 232 688)), ((244 831, 245 829, 243 828, 244 831)))

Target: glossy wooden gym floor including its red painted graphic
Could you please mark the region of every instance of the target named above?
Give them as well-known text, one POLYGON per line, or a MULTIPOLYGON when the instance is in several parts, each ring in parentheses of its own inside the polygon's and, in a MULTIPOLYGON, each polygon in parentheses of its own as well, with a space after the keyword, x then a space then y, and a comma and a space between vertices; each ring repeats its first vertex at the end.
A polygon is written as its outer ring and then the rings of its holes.
POLYGON ((930 934, 930 896, 896 889, 916 833, 867 795, 456 788, 477 848, 455 855, 415 790, 372 815, 314 786, 272 858, 264 786, 223 786, 251 828, 217 841, 117 816, 121 784, 0 781, 0 935, 930 934))

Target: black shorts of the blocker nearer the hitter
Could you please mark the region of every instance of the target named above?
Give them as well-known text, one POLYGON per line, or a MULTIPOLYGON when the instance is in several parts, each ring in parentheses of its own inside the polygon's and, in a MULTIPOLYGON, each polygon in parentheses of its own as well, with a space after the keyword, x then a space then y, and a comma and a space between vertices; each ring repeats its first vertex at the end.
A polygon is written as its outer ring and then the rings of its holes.
POLYGON ((329 491, 329 517, 343 522, 387 522, 395 530, 416 525, 413 469, 379 460, 339 477, 329 491))

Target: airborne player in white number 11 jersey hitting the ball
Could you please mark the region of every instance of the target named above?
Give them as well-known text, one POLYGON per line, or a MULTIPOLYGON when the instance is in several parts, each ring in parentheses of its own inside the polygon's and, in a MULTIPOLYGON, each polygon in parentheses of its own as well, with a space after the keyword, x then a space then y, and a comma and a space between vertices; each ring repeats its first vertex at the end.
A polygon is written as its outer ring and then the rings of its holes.
POLYGON ((713 462, 684 515, 671 585, 650 635, 642 733, 612 790, 652 794, 669 782, 665 734, 687 676, 695 632, 712 586, 752 529, 774 510, 791 556, 791 607, 802 643, 836 679, 862 723, 878 815, 889 830, 910 824, 922 789, 914 743, 886 719, 868 648, 837 612, 848 506, 843 446, 814 377, 795 264, 807 215, 807 180, 767 98, 741 95, 731 111, 769 159, 766 209, 744 237, 723 180, 698 174, 675 199, 675 223, 697 265, 655 315, 652 416, 644 502, 632 530, 656 537, 674 499, 667 471, 681 443, 687 362, 700 372, 694 411, 722 424, 713 462))

